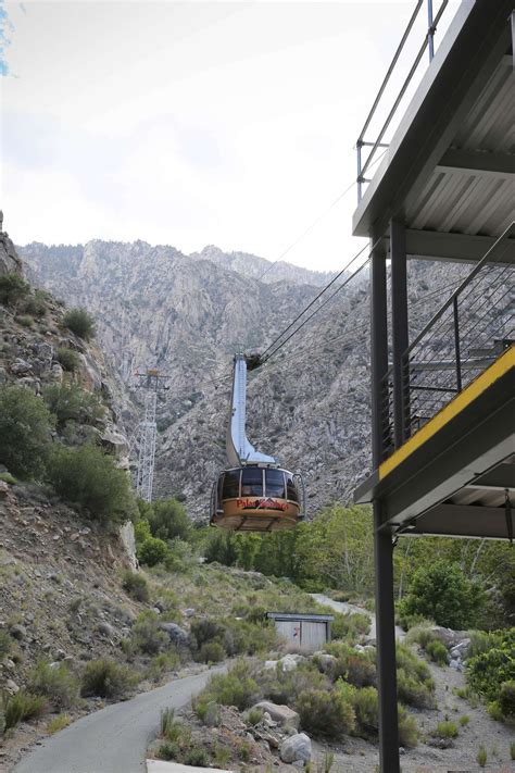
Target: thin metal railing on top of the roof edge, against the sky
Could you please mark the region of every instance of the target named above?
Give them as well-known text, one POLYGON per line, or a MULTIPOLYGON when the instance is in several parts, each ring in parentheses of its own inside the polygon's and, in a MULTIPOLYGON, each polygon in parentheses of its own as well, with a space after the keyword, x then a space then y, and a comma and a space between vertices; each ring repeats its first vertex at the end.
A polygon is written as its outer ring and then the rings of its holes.
POLYGON ((365 174, 367 170, 369 169, 372 162, 374 161, 374 157, 378 150, 378 148, 388 148, 388 144, 384 142, 382 139, 385 137, 385 134, 388 130, 388 127, 390 126, 392 119, 399 108, 399 104, 402 101, 402 98, 404 97, 412 79, 413 76, 415 75, 415 72, 418 67, 418 64, 420 63, 420 60, 424 55, 424 51, 426 48, 429 51, 429 62, 432 61, 432 58, 435 57, 435 33, 437 30, 437 25, 440 22, 440 18, 442 17, 442 14, 445 10, 445 8, 449 4, 449 0, 442 0, 442 3, 438 10, 438 13, 436 16, 432 14, 432 0, 417 0, 415 10, 413 11, 411 18, 407 23, 407 26, 404 30, 404 34, 401 38, 401 42, 399 43, 399 47, 393 55, 393 59, 391 61, 390 66, 388 67, 388 72, 385 76, 385 79, 382 80, 382 84, 379 88, 379 91, 377 92, 377 97, 374 100, 374 104, 372 105, 370 112, 368 113, 368 116, 365 121, 365 124, 360 133, 360 136, 357 137, 356 140, 356 155, 357 155, 357 177, 356 177, 356 183, 357 183, 357 202, 361 201, 362 196, 363 196, 363 184, 364 183, 369 183, 370 179, 365 177, 365 174), (390 82, 390 77, 395 68, 395 65, 399 61, 399 58, 402 53, 402 50, 404 49, 404 46, 406 43, 407 38, 410 37, 410 33, 413 28, 413 25, 415 24, 415 21, 418 16, 418 12, 420 11, 420 8, 423 7, 424 2, 426 2, 427 5, 427 33, 424 38, 424 42, 422 47, 418 50, 417 55, 415 57, 415 61, 413 62, 410 72, 407 73, 406 78, 404 79, 404 83, 401 87, 401 90, 399 91, 392 108, 390 109, 390 112, 388 113, 385 123, 382 124, 381 129, 379 130, 377 137, 373 141, 367 141, 365 140, 365 134, 370 125, 370 122, 377 111, 377 108, 382 99, 382 95, 385 93, 385 90, 390 82), (364 160, 363 159, 363 148, 372 148, 369 151, 367 158, 364 160))

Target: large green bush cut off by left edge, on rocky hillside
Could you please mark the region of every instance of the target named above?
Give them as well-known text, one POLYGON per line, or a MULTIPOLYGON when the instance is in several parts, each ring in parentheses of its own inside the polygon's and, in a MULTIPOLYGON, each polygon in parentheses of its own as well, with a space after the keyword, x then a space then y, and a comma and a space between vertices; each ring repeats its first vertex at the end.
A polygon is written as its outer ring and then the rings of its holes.
POLYGON ((42 473, 53 419, 45 402, 21 386, 0 387, 0 463, 14 475, 42 473))

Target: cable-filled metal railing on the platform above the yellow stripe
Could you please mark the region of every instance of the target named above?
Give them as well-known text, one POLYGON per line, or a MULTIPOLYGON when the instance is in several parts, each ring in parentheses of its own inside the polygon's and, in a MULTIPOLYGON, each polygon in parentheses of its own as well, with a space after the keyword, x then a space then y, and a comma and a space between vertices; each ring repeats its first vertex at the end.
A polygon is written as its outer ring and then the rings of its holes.
MULTIPOLYGON (((514 238, 512 223, 402 354, 403 441, 515 344, 514 238)), ((390 366, 382 379, 384 459, 395 448, 392 376, 390 366)))

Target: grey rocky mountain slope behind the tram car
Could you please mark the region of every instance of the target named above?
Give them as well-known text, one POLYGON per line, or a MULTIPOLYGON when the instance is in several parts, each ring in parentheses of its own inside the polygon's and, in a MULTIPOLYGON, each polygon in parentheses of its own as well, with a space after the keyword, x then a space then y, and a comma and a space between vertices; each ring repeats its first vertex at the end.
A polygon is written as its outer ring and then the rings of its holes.
MULTIPOLYGON (((155 490, 180 496, 193 516, 205 518, 225 463, 233 353, 268 347, 322 277, 289 265, 284 279, 274 280, 274 266, 260 280, 262 259, 213 247, 190 257, 142 241, 33 244, 21 252, 37 283, 95 314, 108 362, 127 387, 121 407, 133 429, 141 397, 130 374, 156 366, 168 376, 158 409, 155 490)), ((466 272, 410 263, 413 331, 451 291, 435 290, 466 272)), ((365 269, 250 378, 249 437, 303 472, 311 514, 349 499, 369 469, 367 292, 365 269)))

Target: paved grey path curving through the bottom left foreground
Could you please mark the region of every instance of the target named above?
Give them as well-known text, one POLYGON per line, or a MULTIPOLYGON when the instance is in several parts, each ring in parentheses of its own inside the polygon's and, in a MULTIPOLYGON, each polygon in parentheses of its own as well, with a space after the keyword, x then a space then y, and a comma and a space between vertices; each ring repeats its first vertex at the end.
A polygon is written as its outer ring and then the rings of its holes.
POLYGON ((143 773, 147 746, 166 707, 179 709, 199 693, 211 669, 83 716, 29 752, 13 773, 143 773))

